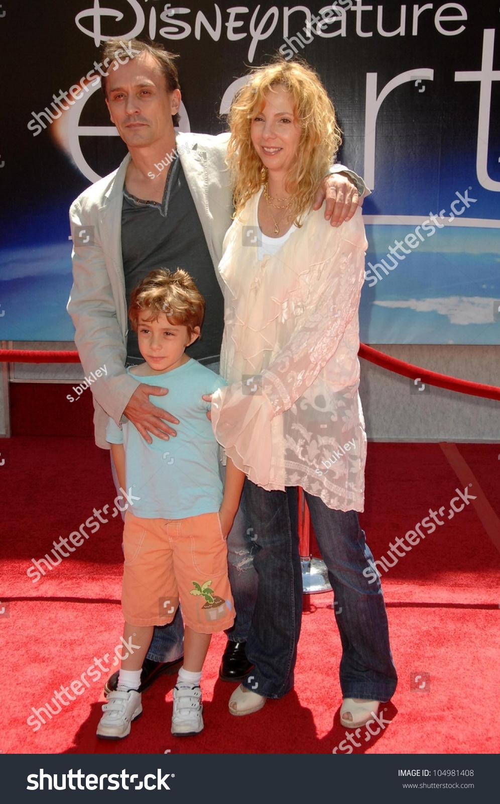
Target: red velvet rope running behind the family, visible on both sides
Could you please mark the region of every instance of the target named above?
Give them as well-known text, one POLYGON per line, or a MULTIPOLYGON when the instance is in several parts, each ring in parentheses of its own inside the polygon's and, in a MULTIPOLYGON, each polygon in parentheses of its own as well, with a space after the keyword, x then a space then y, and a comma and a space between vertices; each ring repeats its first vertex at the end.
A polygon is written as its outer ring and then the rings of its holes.
MULTIPOLYGON (((428 371, 426 368, 413 366, 412 363, 405 363, 383 352, 367 347, 365 343, 360 344, 359 357, 369 360, 370 363, 395 374, 419 379, 420 382, 428 385, 435 385, 437 388, 447 388, 449 391, 456 391, 470 396, 482 396, 488 400, 500 400, 500 388, 494 385, 482 385, 480 383, 469 383, 467 379, 449 377, 445 374, 438 374, 436 371, 428 371)), ((0 363, 80 363, 77 351, 36 351, 27 349, 0 349, 0 363)))

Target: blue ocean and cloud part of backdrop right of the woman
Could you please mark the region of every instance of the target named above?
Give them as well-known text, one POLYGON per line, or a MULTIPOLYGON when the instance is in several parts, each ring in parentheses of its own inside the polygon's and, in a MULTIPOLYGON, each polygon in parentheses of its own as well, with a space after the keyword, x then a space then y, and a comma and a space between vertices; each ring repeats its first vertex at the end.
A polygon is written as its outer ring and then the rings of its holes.
MULTIPOLYGON (((392 266, 389 247, 413 232, 409 225, 367 226, 367 270, 380 260, 392 266)), ((494 320, 495 301, 497 310, 500 302, 500 229, 446 227, 387 276, 378 272, 382 279, 376 285, 367 280, 363 286, 363 343, 500 343, 500 316, 494 320)))

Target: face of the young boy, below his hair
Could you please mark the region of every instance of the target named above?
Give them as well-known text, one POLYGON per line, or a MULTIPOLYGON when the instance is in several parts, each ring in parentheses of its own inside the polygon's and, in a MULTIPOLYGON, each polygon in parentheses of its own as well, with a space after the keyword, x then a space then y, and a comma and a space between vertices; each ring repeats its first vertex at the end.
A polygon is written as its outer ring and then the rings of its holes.
POLYGON ((199 326, 190 336, 186 326, 170 324, 165 313, 158 321, 148 321, 149 317, 148 312, 141 312, 137 322, 139 351, 145 362, 158 374, 182 366, 189 359, 184 350, 199 337, 199 326))

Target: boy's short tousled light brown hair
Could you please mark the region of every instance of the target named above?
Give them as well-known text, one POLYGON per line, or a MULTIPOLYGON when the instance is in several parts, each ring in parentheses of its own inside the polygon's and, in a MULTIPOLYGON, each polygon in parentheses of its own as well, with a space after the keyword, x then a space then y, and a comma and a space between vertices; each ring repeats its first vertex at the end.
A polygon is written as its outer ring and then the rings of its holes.
POLYGON ((129 321, 137 332, 139 314, 150 313, 148 321, 158 321, 165 313, 174 326, 186 326, 189 335, 201 327, 205 300, 189 273, 178 268, 175 273, 159 268, 151 271, 130 295, 129 321))

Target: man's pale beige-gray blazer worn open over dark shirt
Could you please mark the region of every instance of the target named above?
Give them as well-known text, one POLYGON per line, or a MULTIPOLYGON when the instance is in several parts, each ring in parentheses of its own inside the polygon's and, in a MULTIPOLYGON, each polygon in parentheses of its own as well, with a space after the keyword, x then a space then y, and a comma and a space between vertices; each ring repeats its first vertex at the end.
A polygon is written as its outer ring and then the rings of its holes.
MULTIPOLYGON (((232 191, 225 163, 227 133, 178 133, 177 150, 186 181, 214 264, 219 265, 223 238, 232 220, 232 191)), ((109 449, 105 439, 108 417, 120 424, 137 380, 125 373, 128 317, 121 257, 121 206, 129 154, 118 170, 92 184, 70 209, 73 235, 73 286, 68 313, 75 326, 75 343, 84 374, 105 366, 107 374, 92 383, 96 445, 109 449), (75 236, 85 228, 85 237, 75 236), (84 243, 89 237, 87 244, 84 243)), ((363 187, 363 180, 342 165, 363 187)))

